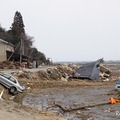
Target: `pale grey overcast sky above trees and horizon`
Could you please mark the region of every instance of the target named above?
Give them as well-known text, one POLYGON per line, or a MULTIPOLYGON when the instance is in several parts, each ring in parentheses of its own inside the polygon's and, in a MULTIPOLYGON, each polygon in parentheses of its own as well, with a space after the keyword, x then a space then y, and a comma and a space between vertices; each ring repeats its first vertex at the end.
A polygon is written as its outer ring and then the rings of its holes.
POLYGON ((6 30, 15 12, 53 61, 120 60, 120 0, 0 0, 6 30))

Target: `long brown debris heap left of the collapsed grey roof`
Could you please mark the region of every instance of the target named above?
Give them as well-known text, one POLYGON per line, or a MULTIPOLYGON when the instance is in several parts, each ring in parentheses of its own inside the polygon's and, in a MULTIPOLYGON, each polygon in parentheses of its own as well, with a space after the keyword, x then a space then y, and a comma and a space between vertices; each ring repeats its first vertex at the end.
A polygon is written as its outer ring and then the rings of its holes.
POLYGON ((13 73, 20 79, 28 80, 66 80, 76 69, 72 65, 58 65, 46 70, 39 70, 37 72, 25 71, 24 69, 18 70, 13 73))

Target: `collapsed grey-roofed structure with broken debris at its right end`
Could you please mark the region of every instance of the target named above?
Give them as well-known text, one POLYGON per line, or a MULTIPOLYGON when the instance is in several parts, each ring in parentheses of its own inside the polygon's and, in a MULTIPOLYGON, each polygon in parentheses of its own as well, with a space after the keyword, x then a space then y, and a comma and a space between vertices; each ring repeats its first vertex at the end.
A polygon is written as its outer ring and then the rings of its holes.
POLYGON ((102 65, 103 59, 83 64, 71 76, 72 78, 98 80, 99 76, 109 77, 111 71, 102 65))

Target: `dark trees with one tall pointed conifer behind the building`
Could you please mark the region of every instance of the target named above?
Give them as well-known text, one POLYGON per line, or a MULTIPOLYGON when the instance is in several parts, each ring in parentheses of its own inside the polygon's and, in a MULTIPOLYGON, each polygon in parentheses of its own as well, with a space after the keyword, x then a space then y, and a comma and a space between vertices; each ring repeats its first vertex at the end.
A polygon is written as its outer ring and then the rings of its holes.
POLYGON ((39 64, 49 64, 50 61, 46 59, 45 54, 33 47, 33 37, 26 34, 25 25, 20 12, 15 12, 13 23, 9 30, 0 26, 0 38, 13 44, 15 52, 18 54, 21 52, 22 44, 22 54, 27 56, 29 61, 37 61, 39 64))

